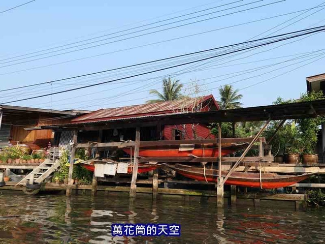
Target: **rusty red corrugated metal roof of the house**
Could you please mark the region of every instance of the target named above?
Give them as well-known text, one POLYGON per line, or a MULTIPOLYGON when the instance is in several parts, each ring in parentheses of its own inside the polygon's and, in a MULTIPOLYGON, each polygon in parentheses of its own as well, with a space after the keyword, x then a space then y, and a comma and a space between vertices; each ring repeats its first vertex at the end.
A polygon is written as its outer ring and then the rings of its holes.
MULTIPOLYGON (((100 109, 98 111, 88 113, 72 119, 72 123, 86 123, 95 121, 105 121, 110 119, 134 118, 147 115, 172 114, 180 112, 192 112, 196 98, 166 101, 160 103, 149 103, 141 105, 133 105, 118 108, 100 109)), ((205 103, 208 110, 219 110, 219 105, 212 95, 199 99, 200 103, 205 103), (213 107, 213 108, 212 108, 213 107), (212 109, 211 109, 212 108, 212 109)))

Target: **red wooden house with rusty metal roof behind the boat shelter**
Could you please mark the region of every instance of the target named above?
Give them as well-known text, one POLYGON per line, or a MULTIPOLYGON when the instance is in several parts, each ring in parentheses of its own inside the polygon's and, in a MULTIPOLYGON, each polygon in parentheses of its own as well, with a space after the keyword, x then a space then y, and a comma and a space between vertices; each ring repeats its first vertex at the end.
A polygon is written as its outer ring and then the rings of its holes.
MULTIPOLYGON (((157 115, 216 111, 219 110, 217 101, 212 95, 200 98, 185 98, 183 100, 166 101, 151 104, 141 104, 118 108, 100 109, 71 120, 71 124, 109 123, 118 119, 134 119, 157 115)), ((63 124, 63 123, 62 123, 63 124)), ((214 138, 207 124, 184 124, 167 126, 150 126, 141 128, 141 140, 181 140, 197 138, 214 138)), ((60 133, 60 132, 57 132, 60 133)), ((72 140, 72 132, 61 132, 60 144, 72 140), (64 140, 64 142, 63 142, 64 140)), ((120 140, 135 140, 135 128, 112 128, 97 131, 78 131, 78 142, 111 142, 120 140)))

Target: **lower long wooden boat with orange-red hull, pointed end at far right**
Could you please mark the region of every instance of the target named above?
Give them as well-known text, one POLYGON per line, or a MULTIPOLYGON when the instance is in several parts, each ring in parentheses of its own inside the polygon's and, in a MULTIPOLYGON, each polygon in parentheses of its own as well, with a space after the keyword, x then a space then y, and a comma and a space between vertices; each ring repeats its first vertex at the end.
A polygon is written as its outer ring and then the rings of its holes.
MULTIPOLYGON (((217 182, 218 170, 216 169, 204 169, 199 167, 175 164, 168 167, 175 170, 177 173, 186 176, 191 179, 199 181, 217 182)), ((222 171, 222 177, 225 177, 228 171, 222 171)), ((233 172, 231 176, 226 180, 226 185, 234 185, 241 187, 256 187, 264 189, 274 189, 281 187, 288 187, 296 184, 308 178, 314 173, 305 173, 302 175, 279 175, 275 173, 244 173, 233 172)))

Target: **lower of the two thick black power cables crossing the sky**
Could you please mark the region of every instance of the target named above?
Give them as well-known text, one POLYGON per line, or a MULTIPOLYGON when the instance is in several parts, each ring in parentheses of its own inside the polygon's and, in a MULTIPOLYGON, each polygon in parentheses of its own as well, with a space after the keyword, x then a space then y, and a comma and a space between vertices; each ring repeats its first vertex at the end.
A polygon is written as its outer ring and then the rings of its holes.
MULTIPOLYGON (((141 74, 131 75, 131 76, 123 77, 123 78, 118 78, 118 79, 114 79, 114 80, 110 80, 110 81, 105 81, 105 82, 100 82, 100 83, 96 83, 96 84, 86 85, 86 86, 77 87, 77 88, 73 88, 73 89, 62 90, 62 91, 56 92, 56 93, 45 94, 45 95, 41 95, 41 96, 35 96, 33 98, 25 98, 25 99, 14 100, 14 101, 6 102, 6 103, 3 103, 3 104, 13 103, 13 102, 20 102, 20 101, 25 101, 25 100, 35 99, 35 98, 41 98, 41 97, 46 97, 46 96, 51 96, 51 95, 56 95, 56 94, 61 94, 61 93, 72 92, 73 90, 84 89, 84 88, 93 87, 93 86, 97 86, 97 85, 101 85, 101 84, 111 83, 111 82, 122 80, 122 79, 128 79, 128 78, 133 78, 133 77, 142 76, 142 75, 146 75, 146 74, 151 74, 151 73, 158 72, 158 71, 168 70, 168 69, 172 69, 172 68, 176 68, 176 67, 180 67, 180 66, 184 66, 184 65, 188 65, 188 64, 201 62, 203 60, 208 60, 208 59, 215 58, 215 57, 218 57, 218 56, 223 56, 223 55, 227 55, 227 54, 231 54, 231 53, 235 53, 235 52, 239 52, 239 51, 243 51, 243 50, 248 50, 248 49, 259 47, 259 46, 266 46, 266 45, 269 45, 269 44, 277 43, 277 42, 284 41, 284 40, 293 39, 293 38, 300 37, 300 36, 309 35, 309 34, 312 34, 312 33, 318 33, 318 32, 324 31, 325 30, 324 27, 325 26, 318 26, 318 27, 315 27, 315 28, 304 29, 304 30, 301 30, 301 31, 293 32, 294 34, 305 32, 305 33, 302 33, 302 34, 297 34, 297 35, 294 35, 294 36, 284 37, 284 38, 281 38, 281 39, 278 39, 278 40, 273 40, 273 41, 270 41, 270 42, 258 44, 258 45, 252 46, 252 47, 246 47, 246 48, 243 48, 241 50, 235 50, 235 51, 231 51, 231 52, 228 52, 228 53, 214 55, 212 57, 206 57, 206 58, 203 58, 203 59, 194 60, 192 62, 187 62, 187 63, 184 63, 184 64, 174 65, 174 66, 170 66, 170 67, 167 67, 167 68, 161 68, 161 69, 148 71, 148 72, 141 73, 141 74)), ((289 34, 293 34, 293 33, 281 34, 281 35, 277 35, 275 37, 281 37, 281 36, 285 36, 285 35, 289 35, 289 34)), ((267 39, 275 38, 275 37, 268 37, 267 39)), ((264 40, 264 39, 261 39, 261 40, 264 40)), ((255 42, 256 41, 258 41, 258 40, 255 40, 255 42)), ((250 41, 250 42, 252 42, 252 41, 250 41)), ((215 48, 215 49, 218 49, 218 48, 215 48)))

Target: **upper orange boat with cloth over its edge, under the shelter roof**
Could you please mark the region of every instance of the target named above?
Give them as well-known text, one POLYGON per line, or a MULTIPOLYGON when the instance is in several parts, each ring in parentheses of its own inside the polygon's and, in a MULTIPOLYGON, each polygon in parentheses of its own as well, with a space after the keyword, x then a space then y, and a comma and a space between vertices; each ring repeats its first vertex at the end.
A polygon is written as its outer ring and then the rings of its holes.
MULTIPOLYGON (((233 154, 236 151, 243 149, 247 143, 235 144, 227 143, 223 144, 221 147, 221 155, 233 154)), ((128 155, 132 154, 130 148, 123 148, 123 151, 128 155)), ((183 144, 180 146, 146 146, 140 147, 139 156, 140 157, 149 157, 149 158, 184 158, 188 155, 193 155, 196 157, 218 157, 218 146, 209 144, 209 145, 194 145, 194 144, 183 144)))

